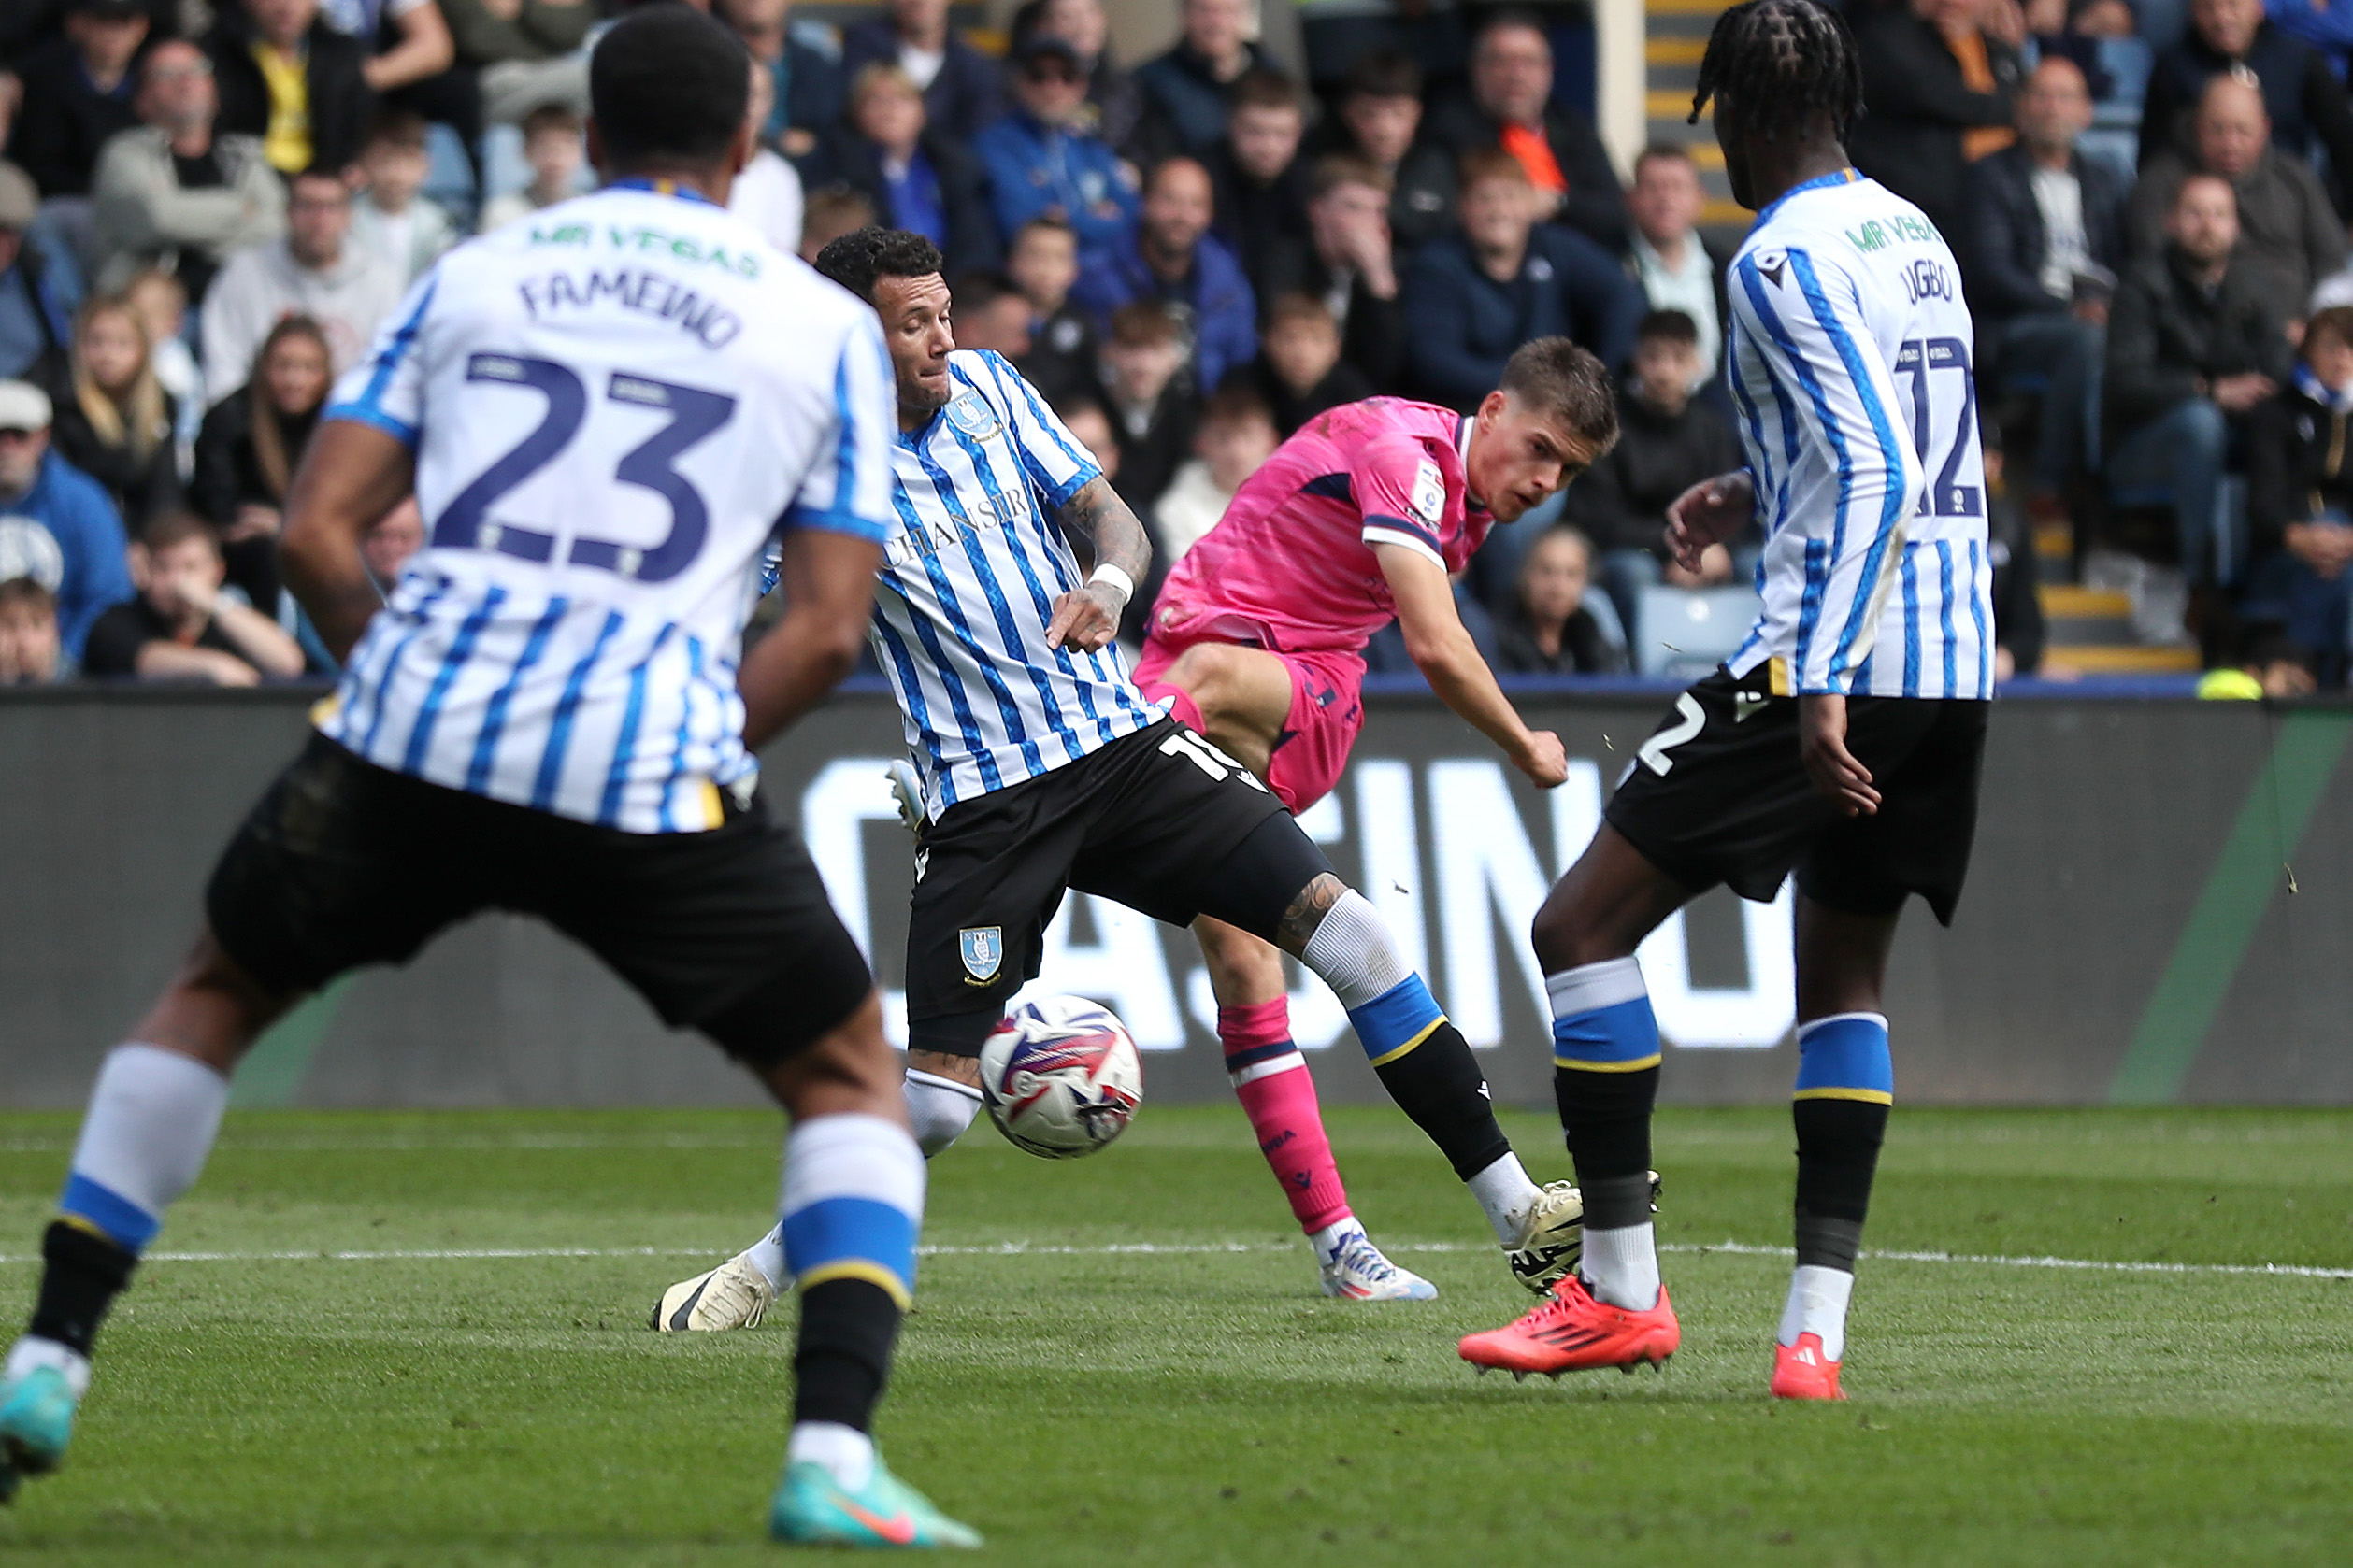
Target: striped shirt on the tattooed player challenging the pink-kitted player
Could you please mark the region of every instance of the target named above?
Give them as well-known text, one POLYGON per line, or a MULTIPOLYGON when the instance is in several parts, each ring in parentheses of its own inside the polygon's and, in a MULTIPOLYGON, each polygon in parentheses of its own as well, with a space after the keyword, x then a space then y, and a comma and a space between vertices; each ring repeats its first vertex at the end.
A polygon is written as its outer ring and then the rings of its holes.
POLYGON ((1144 701, 1118 646, 1045 644, 1054 599, 1080 585, 1054 512, 1101 477, 1094 458, 998 355, 948 355, 948 407, 892 451, 896 522, 873 618, 934 818, 1165 708, 1144 701))

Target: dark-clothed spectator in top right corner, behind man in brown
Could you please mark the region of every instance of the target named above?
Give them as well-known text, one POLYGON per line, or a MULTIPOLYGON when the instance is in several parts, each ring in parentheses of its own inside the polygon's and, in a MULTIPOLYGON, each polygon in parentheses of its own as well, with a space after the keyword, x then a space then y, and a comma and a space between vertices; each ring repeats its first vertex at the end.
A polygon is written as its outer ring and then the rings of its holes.
POLYGON ((2353 103, 2327 61, 2264 19, 2264 0, 2191 0, 2191 31, 2158 54, 2141 99, 2141 165, 2165 148, 2188 153, 2212 78, 2245 66, 2264 87, 2271 143, 2297 160, 2327 150, 2353 169, 2353 103))

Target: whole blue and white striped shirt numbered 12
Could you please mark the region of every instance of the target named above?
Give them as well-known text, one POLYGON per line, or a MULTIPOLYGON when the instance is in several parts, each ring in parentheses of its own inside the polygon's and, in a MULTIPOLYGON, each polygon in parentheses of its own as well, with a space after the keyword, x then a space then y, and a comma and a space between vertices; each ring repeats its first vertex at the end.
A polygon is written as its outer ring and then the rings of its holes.
POLYGON ((1993 696, 1977 334, 1920 209, 1852 169, 1758 214, 1729 367, 1765 614, 1729 670, 1774 691, 1993 696))

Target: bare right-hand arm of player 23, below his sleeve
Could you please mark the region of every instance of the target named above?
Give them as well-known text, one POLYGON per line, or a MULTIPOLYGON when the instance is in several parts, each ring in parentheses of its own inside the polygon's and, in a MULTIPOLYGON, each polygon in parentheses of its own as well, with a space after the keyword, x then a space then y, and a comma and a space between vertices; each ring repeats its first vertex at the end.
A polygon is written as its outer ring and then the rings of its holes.
POLYGON ((793 529, 779 562, 784 621, 744 658, 744 745, 758 750, 826 701, 859 663, 875 602, 882 545, 849 534, 793 529))

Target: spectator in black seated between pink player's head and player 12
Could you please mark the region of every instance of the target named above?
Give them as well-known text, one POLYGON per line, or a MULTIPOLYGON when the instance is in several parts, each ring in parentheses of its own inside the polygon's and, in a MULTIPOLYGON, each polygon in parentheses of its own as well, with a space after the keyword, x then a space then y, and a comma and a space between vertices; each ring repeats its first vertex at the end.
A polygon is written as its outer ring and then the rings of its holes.
POLYGON ((1725 545, 1708 545, 1697 574, 1666 552, 1666 508, 1711 475, 1741 465, 1741 442, 1692 397, 1699 327, 1682 310, 1652 310, 1635 329, 1633 371, 1619 400, 1619 442, 1567 489, 1567 515, 1600 550, 1600 578, 1619 623, 1652 583, 1715 588, 1734 578, 1725 545))

